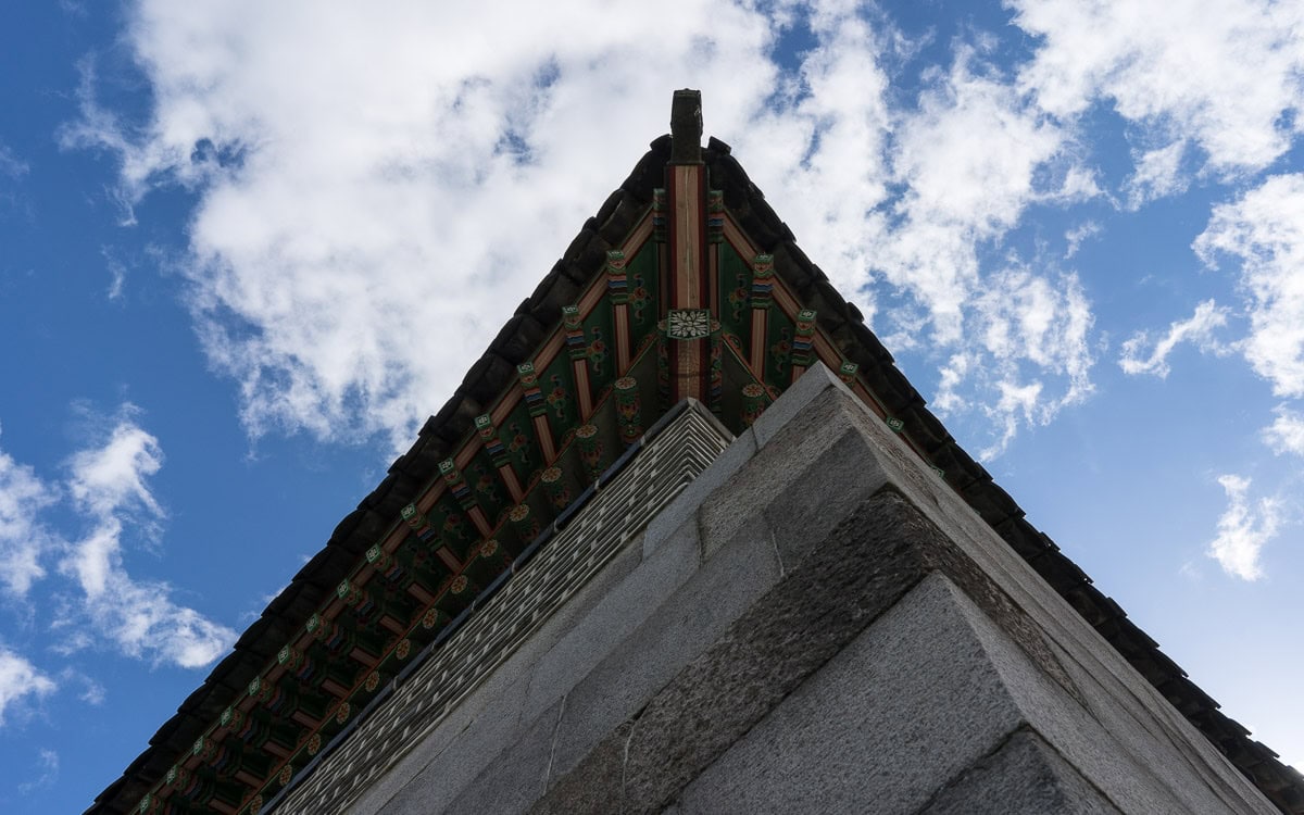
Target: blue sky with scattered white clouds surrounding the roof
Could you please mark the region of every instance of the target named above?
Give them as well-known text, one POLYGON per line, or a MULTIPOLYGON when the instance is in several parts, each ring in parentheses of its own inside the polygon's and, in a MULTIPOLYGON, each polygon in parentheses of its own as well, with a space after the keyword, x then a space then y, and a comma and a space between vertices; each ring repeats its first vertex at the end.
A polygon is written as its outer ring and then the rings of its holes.
POLYGON ((1264 0, 10 4, 0 810, 117 777, 685 86, 1033 523, 1304 764, 1301 77, 1264 0))

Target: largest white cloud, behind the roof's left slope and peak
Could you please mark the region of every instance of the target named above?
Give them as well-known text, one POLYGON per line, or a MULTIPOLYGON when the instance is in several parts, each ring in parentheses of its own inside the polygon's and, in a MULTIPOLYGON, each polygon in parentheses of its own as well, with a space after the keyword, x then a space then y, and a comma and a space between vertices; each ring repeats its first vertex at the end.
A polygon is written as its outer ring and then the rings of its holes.
POLYGON ((128 40, 153 119, 137 136, 87 100, 65 143, 116 153, 129 198, 201 190, 192 306, 250 433, 406 446, 666 129, 665 77, 692 77, 712 132, 741 133, 775 85, 772 38, 763 14, 700 0, 146 1, 128 40))

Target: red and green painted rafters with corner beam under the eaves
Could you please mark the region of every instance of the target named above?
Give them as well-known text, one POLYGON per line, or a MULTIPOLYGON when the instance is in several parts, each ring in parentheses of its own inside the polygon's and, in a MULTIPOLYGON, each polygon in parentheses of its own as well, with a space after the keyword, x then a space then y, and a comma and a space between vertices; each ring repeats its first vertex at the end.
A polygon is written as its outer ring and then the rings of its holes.
POLYGON ((192 805, 256 812, 404 660, 430 642, 494 574, 510 567, 524 544, 575 498, 576 489, 597 477, 614 454, 601 443, 602 422, 610 425, 606 434, 617 439, 617 447, 623 447, 649 421, 648 404, 656 404, 655 415, 660 415, 674 400, 694 396, 720 412, 728 369, 734 372, 729 379, 738 395, 728 399, 734 407, 726 420, 737 432, 815 359, 840 370, 887 417, 854 365, 818 329, 814 312, 802 309, 771 274, 772 258, 747 239, 722 196, 708 189, 702 164, 672 164, 668 189, 656 200, 661 205, 644 213, 579 300, 563 309, 561 325, 522 365, 516 383, 476 419, 475 432, 441 463, 441 477, 368 550, 336 596, 287 643, 244 698, 223 712, 203 735, 207 741, 197 742, 203 748, 179 762, 142 802, 142 812, 185 811, 192 805), (732 291, 722 280, 722 252, 748 258, 746 338, 721 329, 725 295, 732 291), (640 271, 631 274, 631 266, 640 271), (602 351, 613 353, 614 364, 599 376, 591 334, 601 319, 609 326, 600 338, 608 344, 602 351), (640 333, 639 321, 652 325, 640 333), (771 330, 780 323, 792 326, 790 361, 784 376, 776 377, 767 357, 773 356, 771 330), (657 356, 672 370, 669 398, 662 400, 649 390, 657 356), (733 361, 726 364, 725 356, 733 361), (549 396, 569 399, 574 407, 552 411, 549 396), (562 416, 571 419, 567 422, 562 416), (524 428, 519 426, 523 417, 524 428), (523 429, 528 430, 524 445, 535 452, 518 447, 512 458, 523 429), (498 501, 485 503, 490 488, 498 490, 498 501), (252 758, 250 751, 261 751, 262 758, 252 758), (205 777, 210 782, 200 781, 205 777), (231 803, 232 784, 244 788, 237 803, 231 803), (176 806, 168 803, 172 795, 176 806))

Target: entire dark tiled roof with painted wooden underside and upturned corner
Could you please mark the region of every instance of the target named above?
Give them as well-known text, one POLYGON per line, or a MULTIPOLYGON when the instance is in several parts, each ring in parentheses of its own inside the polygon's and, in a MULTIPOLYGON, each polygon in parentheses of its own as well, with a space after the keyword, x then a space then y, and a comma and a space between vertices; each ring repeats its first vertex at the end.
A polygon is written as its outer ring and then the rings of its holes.
POLYGON ((1304 777, 1223 715, 928 412, 677 91, 651 143, 412 447, 87 812, 274 805, 685 399, 732 433, 836 372, 1282 811, 1304 777))

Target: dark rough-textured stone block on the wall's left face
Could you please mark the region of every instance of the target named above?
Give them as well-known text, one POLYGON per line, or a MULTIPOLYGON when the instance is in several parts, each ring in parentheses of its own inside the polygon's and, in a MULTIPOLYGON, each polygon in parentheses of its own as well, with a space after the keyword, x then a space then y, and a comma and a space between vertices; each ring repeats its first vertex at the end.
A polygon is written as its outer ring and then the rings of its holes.
MULTIPOLYGON (((857 524, 845 524, 846 529, 820 545, 827 557, 818 558, 818 565, 807 561, 789 572, 778 588, 754 601, 745 614, 735 610, 729 618, 728 632, 647 703, 627 747, 630 758, 625 776, 630 795, 626 803, 638 803, 626 811, 655 811, 668 803, 807 674, 919 579, 922 563, 910 537, 913 532, 927 535, 927 529, 915 526, 919 522, 913 519, 918 515, 895 494, 884 494, 866 512, 875 518, 870 532, 872 542, 865 544, 859 533, 849 532, 857 524), (862 558, 874 558, 876 566, 858 569, 865 562, 862 558), (690 739, 690 734, 694 738, 690 739)), ((735 574, 730 556, 743 550, 742 541, 725 548, 707 561, 702 575, 712 570, 735 574)), ((694 588, 692 583, 685 587, 689 588, 694 588)), ((675 606, 683 605, 681 597, 674 600, 675 606)), ((716 612, 709 602, 696 608, 716 612)), ((728 609, 717 613, 725 617, 728 609)), ((656 659, 669 651, 665 644, 660 649, 642 651, 649 657, 643 670, 665 670, 656 659)), ((630 715, 639 709, 632 702, 625 705, 630 715)), ((599 743, 595 750, 604 755, 614 750, 609 743, 612 737, 595 742, 592 734, 587 735, 588 743, 599 743)), ((580 764, 589 760, 585 758, 580 764)), ((558 767, 567 772, 566 763, 558 767)), ((578 764, 570 772, 579 771, 578 764)), ((558 785, 552 790, 545 801, 553 803, 548 806, 557 807, 556 811, 583 811, 567 808, 565 789, 569 788, 558 785)))

